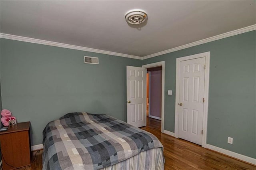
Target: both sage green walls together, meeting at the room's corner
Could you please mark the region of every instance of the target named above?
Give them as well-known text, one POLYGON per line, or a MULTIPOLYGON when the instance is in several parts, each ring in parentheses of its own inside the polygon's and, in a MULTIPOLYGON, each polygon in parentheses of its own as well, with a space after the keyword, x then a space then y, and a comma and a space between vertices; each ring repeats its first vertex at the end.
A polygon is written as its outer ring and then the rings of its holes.
POLYGON ((164 129, 174 132, 176 58, 210 51, 207 143, 256 158, 255 50, 256 31, 146 60, 1 39, 2 104, 31 121, 32 145, 41 144, 46 123, 68 112, 126 121, 126 65, 165 61, 164 129), (84 55, 100 64, 84 64, 84 55))

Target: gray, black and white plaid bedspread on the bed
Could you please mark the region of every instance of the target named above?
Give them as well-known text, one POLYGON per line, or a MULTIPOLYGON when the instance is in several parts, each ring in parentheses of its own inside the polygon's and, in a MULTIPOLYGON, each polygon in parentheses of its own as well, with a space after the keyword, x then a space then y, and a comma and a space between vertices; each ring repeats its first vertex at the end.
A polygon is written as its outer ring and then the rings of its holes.
POLYGON ((43 169, 101 169, 161 148, 151 133, 108 115, 68 113, 43 131, 43 169))

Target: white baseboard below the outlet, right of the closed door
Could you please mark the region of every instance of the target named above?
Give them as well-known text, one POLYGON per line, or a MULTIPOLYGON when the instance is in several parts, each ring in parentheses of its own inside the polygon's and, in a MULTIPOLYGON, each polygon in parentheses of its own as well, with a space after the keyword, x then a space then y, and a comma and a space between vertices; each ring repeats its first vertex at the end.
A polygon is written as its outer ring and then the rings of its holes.
POLYGON ((242 154, 238 154, 236 152, 232 152, 230 150, 226 150, 226 149, 222 149, 222 148, 219 148, 217 146, 213 146, 213 145, 210 145, 210 144, 206 144, 206 148, 208 149, 211 149, 211 150, 214 150, 216 152, 220 152, 222 154, 225 154, 225 155, 228 155, 228 156, 231 156, 233 158, 237 158, 237 159, 240 159, 240 160, 243 160, 245 162, 249 162, 251 164, 254 164, 256 165, 256 159, 254 158, 251 158, 249 156, 245 156, 245 155, 242 155, 242 154))

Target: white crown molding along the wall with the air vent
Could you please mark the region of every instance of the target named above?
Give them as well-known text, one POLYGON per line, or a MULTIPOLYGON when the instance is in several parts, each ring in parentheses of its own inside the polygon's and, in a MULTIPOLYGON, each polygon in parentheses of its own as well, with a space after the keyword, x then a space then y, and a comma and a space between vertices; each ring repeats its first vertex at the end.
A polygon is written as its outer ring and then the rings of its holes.
POLYGON ((51 41, 39 40, 39 39, 35 39, 35 38, 15 36, 15 35, 11 35, 11 34, 0 33, 0 38, 9 39, 9 40, 17 40, 17 41, 22 41, 22 42, 30 42, 30 43, 51 45, 51 46, 56 46, 56 47, 69 48, 69 49, 77 49, 77 50, 81 50, 81 51, 89 51, 89 52, 94 52, 94 53, 116 55, 116 56, 120 56, 120 57, 127 57, 127 58, 133 58, 133 59, 142 59, 142 57, 139 57, 139 56, 136 56, 136 55, 116 53, 116 52, 105 51, 105 50, 101 50, 101 49, 94 49, 94 48, 70 45, 70 44, 66 44, 66 43, 51 42, 51 41))

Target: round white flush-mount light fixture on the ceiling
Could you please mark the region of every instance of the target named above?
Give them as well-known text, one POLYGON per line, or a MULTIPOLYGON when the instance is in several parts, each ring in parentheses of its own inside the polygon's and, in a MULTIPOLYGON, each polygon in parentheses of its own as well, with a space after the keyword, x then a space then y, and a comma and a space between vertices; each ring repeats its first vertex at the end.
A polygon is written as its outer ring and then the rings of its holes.
POLYGON ((125 20, 129 24, 141 24, 148 18, 144 10, 130 10, 125 14, 125 20))

